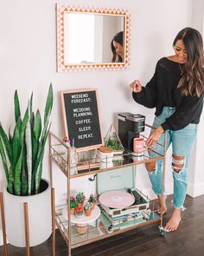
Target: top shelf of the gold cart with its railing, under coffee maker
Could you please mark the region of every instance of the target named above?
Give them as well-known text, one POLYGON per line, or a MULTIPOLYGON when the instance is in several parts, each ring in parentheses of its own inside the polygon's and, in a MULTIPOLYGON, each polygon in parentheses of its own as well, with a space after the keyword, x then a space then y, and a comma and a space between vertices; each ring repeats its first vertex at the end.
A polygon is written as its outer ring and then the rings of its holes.
MULTIPOLYGON (((99 158, 99 150, 87 150, 80 152, 77 167, 69 167, 68 161, 68 147, 61 139, 52 134, 50 145, 50 157, 61 168, 61 171, 69 176, 70 179, 77 178, 84 175, 97 174, 114 170, 118 168, 140 165, 152 161, 152 154, 154 154, 154 161, 163 160, 164 158, 164 145, 156 143, 156 150, 145 148, 143 152, 143 159, 134 156, 133 152, 124 152, 124 154, 115 154, 112 161, 104 162, 99 158), (159 154, 157 148, 163 147, 163 154, 159 154), (68 175, 69 172, 69 175, 68 175)), ((146 138, 145 135, 144 139, 146 138)), ((161 150, 160 150, 161 151, 161 150)))

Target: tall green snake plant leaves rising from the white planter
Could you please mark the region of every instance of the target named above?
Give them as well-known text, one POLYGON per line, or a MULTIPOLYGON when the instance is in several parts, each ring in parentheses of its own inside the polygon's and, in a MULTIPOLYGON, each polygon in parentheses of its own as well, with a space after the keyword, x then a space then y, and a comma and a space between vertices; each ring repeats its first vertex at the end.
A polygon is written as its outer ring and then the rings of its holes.
POLYGON ((8 135, 0 123, 0 154, 10 194, 31 195, 40 192, 42 160, 49 129, 49 116, 53 107, 53 87, 50 84, 44 110, 33 112, 33 94, 25 114, 21 115, 17 90, 14 95, 15 128, 8 135))

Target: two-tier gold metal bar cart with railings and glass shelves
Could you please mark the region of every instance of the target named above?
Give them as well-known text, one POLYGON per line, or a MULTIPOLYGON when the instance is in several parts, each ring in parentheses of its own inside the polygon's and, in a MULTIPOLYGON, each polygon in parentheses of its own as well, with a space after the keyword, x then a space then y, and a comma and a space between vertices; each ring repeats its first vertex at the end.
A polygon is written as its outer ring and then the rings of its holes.
MULTIPOLYGON (((140 134, 140 136, 142 136, 144 139, 148 138, 148 135, 150 134, 150 129, 152 129, 151 126, 145 124, 145 132, 143 134, 140 134)), ((92 243, 94 241, 97 240, 103 240, 105 238, 108 238, 112 235, 117 235, 118 233, 124 233, 127 231, 130 231, 134 228, 140 227, 140 226, 146 226, 149 225, 150 223, 159 221, 160 222, 160 226, 163 227, 163 215, 161 214, 160 216, 157 215, 156 218, 152 218, 152 215, 156 215, 156 206, 154 201, 150 202, 148 201, 148 204, 150 204, 150 215, 148 217, 147 214, 147 220, 145 221, 138 221, 135 220, 133 222, 129 222, 128 225, 124 225, 121 224, 120 228, 117 228, 115 226, 114 231, 112 233, 108 233, 105 229, 105 226, 102 224, 102 222, 100 221, 100 217, 97 220, 96 225, 90 226, 90 228, 88 228, 87 233, 84 235, 83 239, 77 239, 74 236, 79 235, 76 233, 73 233, 73 225, 70 221, 70 213, 69 210, 67 211, 67 220, 65 220, 62 216, 62 210, 63 207, 67 206, 67 209, 69 209, 69 203, 70 203, 70 180, 71 179, 75 179, 78 177, 86 177, 88 175, 94 175, 94 174, 101 174, 104 175, 105 173, 108 173, 110 171, 112 171, 112 173, 114 174, 114 171, 118 171, 120 170, 121 172, 125 172, 125 170, 127 171, 127 169, 132 169, 131 171, 131 177, 133 178, 132 181, 130 180, 130 177, 127 178, 129 179, 128 182, 132 182, 131 185, 129 183, 128 188, 134 188, 134 184, 133 181, 135 179, 134 175, 135 175, 135 171, 137 171, 137 167, 138 165, 141 164, 145 164, 147 162, 153 161, 151 159, 151 149, 144 152, 144 158, 143 160, 137 160, 137 159, 132 159, 131 158, 131 153, 124 153, 123 155, 121 155, 121 159, 117 161, 112 162, 112 165, 110 165, 110 163, 107 163, 106 165, 103 164, 100 165, 100 161, 99 161, 99 156, 97 154, 96 155, 96 159, 89 159, 86 161, 80 161, 79 165, 78 165, 78 174, 70 174, 70 166, 69 166, 69 148, 67 147, 67 145, 61 141, 61 139, 54 135, 54 133, 52 133, 51 131, 49 132, 49 166, 50 166, 50 181, 51 181, 51 185, 53 187, 53 163, 55 163, 55 165, 62 171, 63 174, 65 174, 65 177, 67 179, 67 201, 65 202, 65 205, 61 205, 61 206, 55 206, 54 204, 54 187, 53 189, 53 194, 52 194, 52 212, 53 212, 53 236, 52 236, 52 243, 53 243, 53 255, 55 255, 55 225, 58 227, 59 231, 61 232, 61 235, 63 237, 63 239, 67 242, 67 246, 68 246, 68 255, 71 256, 72 253, 72 249, 78 246, 83 246, 89 243, 92 243), (63 154, 67 155, 67 161, 65 161, 65 158, 63 157, 62 153, 61 153, 61 149, 60 148, 64 148, 63 150, 63 154), (94 165, 92 165, 92 162, 94 162, 94 165), (83 167, 84 165, 84 167, 83 167), (133 171, 134 170, 134 171, 133 171), (151 216, 151 217, 150 217, 151 216), (94 235, 92 235, 92 233, 94 233, 94 235), (77 241, 77 242, 76 242, 77 241)), ((154 161, 156 160, 162 160, 163 161, 163 183, 164 183, 164 177, 165 177, 165 167, 166 167, 166 135, 164 134, 164 143, 162 144, 158 144, 156 143, 156 147, 163 147, 163 154, 158 154, 156 151, 154 151, 154 154, 156 154, 156 158, 154 158, 154 161)), ((90 154, 92 155, 92 154, 90 154)), ((111 174, 111 172, 110 172, 111 174)), ((115 172, 115 174, 117 174, 117 172, 115 172)), ((87 178, 87 177, 86 177, 87 178)), ((107 184, 105 186, 105 189, 109 189, 109 185, 108 182, 106 182, 107 184)), ((101 192, 101 187, 100 184, 98 184, 98 190, 101 192)), ((126 186, 125 184, 117 184, 117 187, 120 186, 126 186)), ((163 186, 163 184, 162 184, 163 186)), ((114 187, 116 188, 116 187, 114 187)), ((164 187, 163 187, 164 190, 164 187)), ((102 218, 101 218, 102 219, 102 218)), ((161 230, 160 230, 161 231, 161 230)))

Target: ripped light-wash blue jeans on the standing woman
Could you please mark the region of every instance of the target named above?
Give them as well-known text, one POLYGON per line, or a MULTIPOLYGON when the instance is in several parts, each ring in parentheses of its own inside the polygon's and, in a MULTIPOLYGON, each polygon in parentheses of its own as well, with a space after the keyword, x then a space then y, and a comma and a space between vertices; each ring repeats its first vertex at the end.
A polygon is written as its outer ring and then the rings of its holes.
MULTIPOLYGON (((164 107, 163 113, 159 116, 155 117, 153 122, 153 127, 159 127, 166 118, 172 115, 175 112, 175 108, 164 107)), ((167 149, 169 148, 170 144, 172 143, 172 155, 181 155, 184 157, 182 161, 179 163, 183 164, 183 167, 180 168, 179 172, 175 172, 173 168, 173 178, 174 178, 174 207, 175 208, 182 208, 183 203, 187 193, 188 187, 188 158, 191 153, 191 150, 194 145, 194 139, 197 133, 197 125, 194 123, 188 124, 186 128, 182 128, 180 130, 166 131, 166 138, 167 138, 167 149)), ((161 135, 158 142, 163 144, 164 135, 161 135)), ((156 146, 154 146, 156 147, 156 146)), ((158 147, 154 148, 158 153, 163 154, 163 148, 158 147)), ((155 154, 151 155, 151 158, 156 157, 155 154)), ((173 158, 172 158, 173 159, 173 158)), ((162 194, 162 179, 163 179, 163 161, 158 160, 156 161, 156 169, 148 172, 150 176, 150 181, 152 184, 152 188, 155 194, 162 194)))

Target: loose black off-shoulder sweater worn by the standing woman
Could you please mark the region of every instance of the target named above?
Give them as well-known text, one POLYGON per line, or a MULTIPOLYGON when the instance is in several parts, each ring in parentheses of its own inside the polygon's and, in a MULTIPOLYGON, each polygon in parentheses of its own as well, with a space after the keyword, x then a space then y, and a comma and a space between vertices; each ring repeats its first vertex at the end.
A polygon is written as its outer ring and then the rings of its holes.
POLYGON ((132 93, 134 100, 147 108, 156 108, 155 115, 160 115, 163 107, 175 107, 175 113, 163 122, 163 130, 179 130, 189 123, 199 123, 203 107, 203 93, 181 95, 177 89, 182 77, 182 65, 163 57, 156 64, 156 71, 146 87, 139 93, 132 93))

